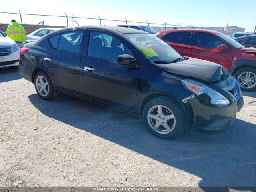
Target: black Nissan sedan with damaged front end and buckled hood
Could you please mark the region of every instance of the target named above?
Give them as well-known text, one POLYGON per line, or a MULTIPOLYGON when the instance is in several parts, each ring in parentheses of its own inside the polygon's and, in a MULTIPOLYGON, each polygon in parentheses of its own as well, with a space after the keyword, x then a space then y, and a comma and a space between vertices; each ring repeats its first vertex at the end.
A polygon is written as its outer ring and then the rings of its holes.
POLYGON ((45 100, 59 92, 142 116, 160 138, 222 132, 243 106, 236 79, 215 63, 188 58, 140 30, 78 26, 20 50, 20 73, 45 100))

